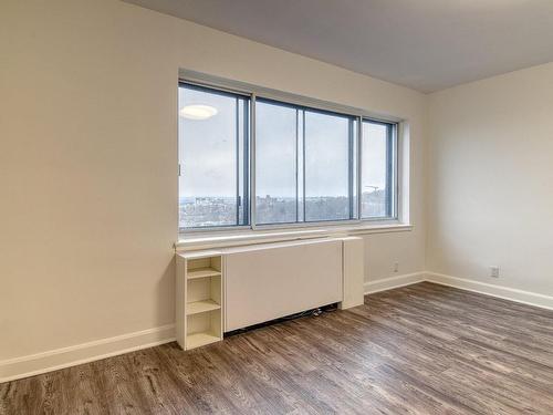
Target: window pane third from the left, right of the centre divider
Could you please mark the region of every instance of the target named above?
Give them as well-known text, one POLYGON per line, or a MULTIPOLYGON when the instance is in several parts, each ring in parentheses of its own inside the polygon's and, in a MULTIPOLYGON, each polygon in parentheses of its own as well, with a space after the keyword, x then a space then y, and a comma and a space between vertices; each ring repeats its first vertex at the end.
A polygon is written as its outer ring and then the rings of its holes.
POLYGON ((351 118, 305 111, 305 221, 351 217, 351 118))

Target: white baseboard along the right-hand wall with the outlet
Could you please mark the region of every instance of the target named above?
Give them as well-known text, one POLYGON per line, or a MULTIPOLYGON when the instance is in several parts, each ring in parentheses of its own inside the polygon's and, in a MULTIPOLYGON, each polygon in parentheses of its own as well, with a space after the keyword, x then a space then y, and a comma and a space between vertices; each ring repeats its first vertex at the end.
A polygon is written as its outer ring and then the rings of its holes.
POLYGON ((426 281, 553 310, 553 297, 539 294, 536 292, 523 291, 515 288, 495 286, 436 272, 427 272, 426 281))

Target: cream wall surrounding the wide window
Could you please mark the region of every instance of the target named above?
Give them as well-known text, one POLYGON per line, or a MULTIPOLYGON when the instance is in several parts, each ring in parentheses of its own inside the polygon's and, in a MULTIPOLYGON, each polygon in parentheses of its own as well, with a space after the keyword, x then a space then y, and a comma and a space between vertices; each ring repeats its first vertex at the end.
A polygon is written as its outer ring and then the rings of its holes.
POLYGON ((409 120, 366 276, 424 270, 424 95, 115 0, 2 0, 0 51, 0 361, 174 322, 179 68, 409 120))

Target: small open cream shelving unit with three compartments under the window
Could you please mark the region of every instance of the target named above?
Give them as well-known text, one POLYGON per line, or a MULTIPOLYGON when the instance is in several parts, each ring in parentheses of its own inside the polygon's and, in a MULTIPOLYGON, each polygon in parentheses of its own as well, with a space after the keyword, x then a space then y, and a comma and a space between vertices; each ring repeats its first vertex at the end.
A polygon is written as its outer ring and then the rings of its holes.
POLYGON ((184 350, 222 340, 221 252, 177 255, 177 342, 184 350))

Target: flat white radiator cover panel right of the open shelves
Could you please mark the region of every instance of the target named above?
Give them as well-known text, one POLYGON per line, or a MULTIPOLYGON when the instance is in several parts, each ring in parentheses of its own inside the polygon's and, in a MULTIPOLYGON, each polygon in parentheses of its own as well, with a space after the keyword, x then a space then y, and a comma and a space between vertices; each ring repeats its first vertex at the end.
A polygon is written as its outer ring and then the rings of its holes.
POLYGON ((226 250, 225 331, 342 302, 343 249, 321 239, 226 250))

